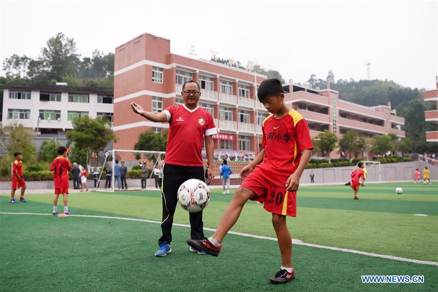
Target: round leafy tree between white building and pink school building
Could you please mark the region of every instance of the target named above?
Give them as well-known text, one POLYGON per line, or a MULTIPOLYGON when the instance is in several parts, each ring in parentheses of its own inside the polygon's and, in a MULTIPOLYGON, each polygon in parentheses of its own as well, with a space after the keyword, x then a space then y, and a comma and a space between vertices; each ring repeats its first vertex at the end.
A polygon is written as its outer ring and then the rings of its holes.
POLYGON ((93 152, 104 149, 110 141, 117 141, 108 119, 83 116, 74 118, 72 124, 73 129, 67 132, 67 139, 69 144, 74 143, 76 149, 86 151, 88 167, 91 165, 93 152))

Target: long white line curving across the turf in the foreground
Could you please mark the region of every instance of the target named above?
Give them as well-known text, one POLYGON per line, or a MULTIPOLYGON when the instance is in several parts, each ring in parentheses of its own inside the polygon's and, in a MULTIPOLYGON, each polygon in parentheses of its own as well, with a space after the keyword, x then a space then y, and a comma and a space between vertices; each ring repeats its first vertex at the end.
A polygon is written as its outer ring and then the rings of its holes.
MULTIPOLYGON (((15 212, 0 212, 0 214, 5 215, 42 215, 42 216, 53 216, 52 214, 48 213, 15 213, 15 212)), ((126 218, 126 217, 113 217, 113 216, 95 216, 95 215, 69 215, 69 217, 86 217, 86 218, 101 218, 101 219, 118 219, 118 220, 127 220, 127 221, 139 221, 139 222, 146 222, 146 223, 155 223, 155 224, 161 224, 160 221, 154 221, 154 220, 147 220, 147 219, 137 219, 137 218, 126 218)), ((187 227, 190 228, 190 225, 187 224, 179 224, 179 223, 173 223, 175 226, 181 226, 181 227, 187 227)), ((216 229, 213 228, 205 228, 204 230, 207 231, 216 231, 216 229)), ((260 235, 253 235, 248 233, 241 233, 241 232, 234 232, 229 231, 229 234, 243 236, 243 237, 251 237, 251 238, 257 238, 257 239, 266 239, 266 240, 272 240, 277 241, 277 238, 275 237, 267 237, 267 236, 260 236, 260 235)), ((434 261, 427 261, 427 260, 419 260, 419 259, 412 259, 412 258, 405 258, 400 256, 389 256, 389 255, 380 255, 380 254, 374 254, 374 253, 367 253, 362 251, 356 251, 352 249, 347 248, 339 248, 339 247, 333 247, 333 246, 325 246, 325 245, 319 245, 319 244, 313 244, 313 243, 307 243, 303 242, 299 239, 292 239, 292 243, 296 245, 305 245, 315 248, 322 248, 322 249, 328 249, 332 251, 340 251, 344 253, 350 253, 350 254, 358 254, 363 256, 373 256, 373 257, 381 257, 386 259, 392 259, 392 260, 398 260, 398 261, 404 261, 409 263, 415 263, 415 264, 421 264, 421 265, 432 265, 432 266, 438 266, 438 262, 434 261)))

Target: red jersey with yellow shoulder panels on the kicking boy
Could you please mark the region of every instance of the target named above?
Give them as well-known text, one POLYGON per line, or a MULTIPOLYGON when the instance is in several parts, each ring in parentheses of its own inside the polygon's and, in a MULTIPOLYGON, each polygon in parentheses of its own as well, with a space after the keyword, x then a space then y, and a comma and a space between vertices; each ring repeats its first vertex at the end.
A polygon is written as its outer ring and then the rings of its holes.
POLYGON ((256 167, 274 184, 284 187, 300 163, 303 150, 312 149, 309 125, 303 116, 290 110, 281 119, 268 116, 262 125, 265 149, 263 163, 256 167))

